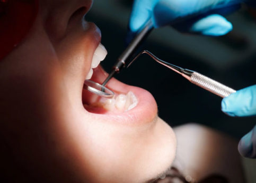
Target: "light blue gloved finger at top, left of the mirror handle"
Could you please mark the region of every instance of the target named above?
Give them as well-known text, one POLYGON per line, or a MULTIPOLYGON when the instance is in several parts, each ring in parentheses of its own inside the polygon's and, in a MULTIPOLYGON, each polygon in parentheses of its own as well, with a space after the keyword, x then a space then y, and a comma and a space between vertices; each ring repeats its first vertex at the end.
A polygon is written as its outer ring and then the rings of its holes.
POLYGON ((159 0, 135 0, 131 11, 129 27, 132 32, 139 30, 152 16, 153 8, 159 0))

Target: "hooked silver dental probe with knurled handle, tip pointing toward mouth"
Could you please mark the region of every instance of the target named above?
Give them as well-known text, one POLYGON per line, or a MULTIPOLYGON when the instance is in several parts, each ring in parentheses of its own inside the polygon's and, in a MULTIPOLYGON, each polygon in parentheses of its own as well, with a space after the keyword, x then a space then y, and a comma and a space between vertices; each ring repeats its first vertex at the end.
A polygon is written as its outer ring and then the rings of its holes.
POLYGON ((208 90, 211 93, 214 93, 216 95, 218 95, 219 97, 225 98, 227 97, 229 94, 231 93, 235 93, 236 91, 225 86, 224 84, 221 84, 213 79, 208 78, 205 75, 202 75, 198 72, 195 71, 191 71, 188 69, 183 69, 180 68, 179 66, 167 63, 163 60, 158 59, 155 55, 153 55, 151 52, 144 50, 142 52, 140 52, 134 59, 133 61, 131 61, 129 63, 129 65, 127 66, 127 68, 130 66, 130 64, 132 64, 140 55, 142 55, 143 53, 148 54, 149 56, 152 57, 152 59, 154 59, 156 62, 166 66, 167 68, 175 71, 176 73, 181 74, 184 78, 186 78, 187 80, 189 80, 191 83, 196 84, 198 86, 200 86, 201 88, 208 90))

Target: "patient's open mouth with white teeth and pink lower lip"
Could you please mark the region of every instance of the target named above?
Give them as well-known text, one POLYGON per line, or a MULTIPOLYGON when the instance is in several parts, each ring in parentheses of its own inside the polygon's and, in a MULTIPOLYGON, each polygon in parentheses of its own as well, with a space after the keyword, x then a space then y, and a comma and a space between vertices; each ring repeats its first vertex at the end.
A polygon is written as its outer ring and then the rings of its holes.
MULTIPOLYGON (((100 43, 94 52, 91 70, 86 79, 101 84, 107 78, 108 73, 100 65, 106 55, 107 51, 100 43)), ((156 115, 156 102, 148 91, 124 84, 114 78, 107 83, 107 88, 114 92, 112 99, 83 90, 82 102, 86 111, 95 114, 123 114, 135 118, 136 121, 143 115, 156 115)))

